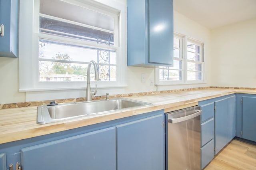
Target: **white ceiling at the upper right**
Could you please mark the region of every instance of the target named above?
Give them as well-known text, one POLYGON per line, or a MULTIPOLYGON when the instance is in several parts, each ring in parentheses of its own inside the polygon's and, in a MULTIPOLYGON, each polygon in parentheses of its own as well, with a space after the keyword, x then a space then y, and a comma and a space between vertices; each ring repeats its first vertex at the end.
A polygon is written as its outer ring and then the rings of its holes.
POLYGON ((173 0, 174 10, 209 29, 256 18, 256 0, 173 0))

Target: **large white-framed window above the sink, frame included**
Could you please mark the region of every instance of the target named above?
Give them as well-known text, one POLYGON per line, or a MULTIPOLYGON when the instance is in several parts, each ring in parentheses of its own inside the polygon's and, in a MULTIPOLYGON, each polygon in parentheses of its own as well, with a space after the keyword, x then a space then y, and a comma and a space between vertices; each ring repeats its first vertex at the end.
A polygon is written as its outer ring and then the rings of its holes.
POLYGON ((124 28, 126 7, 113 0, 24 0, 20 91, 83 89, 91 60, 100 71, 99 88, 125 86, 124 28))

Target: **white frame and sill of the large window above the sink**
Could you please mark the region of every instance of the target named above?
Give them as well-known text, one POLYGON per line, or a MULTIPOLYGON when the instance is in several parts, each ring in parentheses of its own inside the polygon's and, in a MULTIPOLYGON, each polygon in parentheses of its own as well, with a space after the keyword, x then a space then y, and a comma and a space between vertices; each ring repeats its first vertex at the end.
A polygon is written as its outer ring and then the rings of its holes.
MULTIPOLYGON (((97 6, 110 12, 118 12, 119 41, 115 39, 115 45, 110 47, 116 51, 116 81, 91 81, 91 86, 95 84, 98 88, 126 87, 127 70, 127 45, 126 45, 126 16, 127 10, 124 4, 115 0, 63 0, 79 6, 97 6)), ((35 91, 61 91, 86 89, 86 82, 39 82, 38 80, 38 38, 47 38, 48 35, 39 33, 39 0, 22 0, 20 3, 20 37, 19 37, 19 57, 20 57, 20 92, 35 91), (37 8, 34 8, 34 7, 37 8)), ((53 37, 53 36, 52 36, 53 37)), ((65 38, 62 38, 65 41, 65 38)), ((60 40, 60 38, 58 38, 60 40)), ((74 43, 75 40, 74 40, 74 43)), ((90 43, 87 45, 90 46, 90 43)), ((106 46, 104 46, 106 47, 106 46)), ((104 48, 103 47, 103 48, 104 48)), ((64 91, 63 91, 64 92, 64 91)), ((85 94, 80 95, 85 96, 85 94)), ((71 97, 71 96, 70 96, 71 97)), ((61 98, 61 97, 59 97, 61 98)), ((63 98, 61 98, 63 99, 63 98)), ((28 99, 29 100, 29 99, 28 99)), ((38 99, 39 100, 39 99, 38 99)))

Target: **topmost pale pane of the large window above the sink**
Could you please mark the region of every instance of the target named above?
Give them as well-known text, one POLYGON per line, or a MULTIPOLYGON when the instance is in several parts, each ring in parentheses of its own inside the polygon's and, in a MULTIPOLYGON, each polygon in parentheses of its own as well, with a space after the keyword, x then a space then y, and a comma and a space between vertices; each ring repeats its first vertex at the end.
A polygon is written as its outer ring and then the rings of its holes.
POLYGON ((40 13, 114 31, 112 16, 60 0, 40 0, 40 13))

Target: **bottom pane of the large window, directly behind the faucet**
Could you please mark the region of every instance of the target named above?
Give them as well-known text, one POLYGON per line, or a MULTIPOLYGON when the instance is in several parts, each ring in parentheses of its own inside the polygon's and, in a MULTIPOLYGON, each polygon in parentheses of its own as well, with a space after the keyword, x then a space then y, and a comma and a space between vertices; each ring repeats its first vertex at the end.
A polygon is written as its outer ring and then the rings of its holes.
MULTIPOLYGON (((87 64, 39 61, 39 81, 86 81, 87 64)), ((101 81, 116 81, 116 66, 98 65, 101 81)), ((91 67, 90 80, 94 81, 91 67)))

